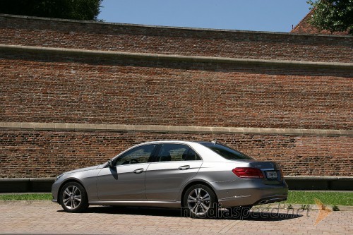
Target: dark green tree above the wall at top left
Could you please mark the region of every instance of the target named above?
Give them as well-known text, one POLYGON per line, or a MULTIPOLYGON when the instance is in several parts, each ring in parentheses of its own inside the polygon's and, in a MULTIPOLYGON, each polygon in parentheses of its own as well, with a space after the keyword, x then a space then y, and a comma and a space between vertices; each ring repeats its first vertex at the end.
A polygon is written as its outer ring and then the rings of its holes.
POLYGON ((1 0, 0 13, 97 21, 101 4, 102 0, 1 0))

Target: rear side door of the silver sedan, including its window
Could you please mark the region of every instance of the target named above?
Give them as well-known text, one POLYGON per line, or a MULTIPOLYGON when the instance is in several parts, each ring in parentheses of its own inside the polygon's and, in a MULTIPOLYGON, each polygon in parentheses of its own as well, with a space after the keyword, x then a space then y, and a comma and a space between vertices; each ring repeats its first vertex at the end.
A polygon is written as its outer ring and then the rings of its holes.
POLYGON ((162 144, 146 172, 147 200, 180 200, 181 186, 197 174, 201 164, 201 158, 188 145, 162 144))

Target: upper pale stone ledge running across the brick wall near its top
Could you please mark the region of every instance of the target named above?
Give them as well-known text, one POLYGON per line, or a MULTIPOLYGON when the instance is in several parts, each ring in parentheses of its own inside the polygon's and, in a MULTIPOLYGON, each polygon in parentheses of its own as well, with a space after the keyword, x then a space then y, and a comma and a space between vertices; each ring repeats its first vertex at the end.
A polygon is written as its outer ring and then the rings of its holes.
POLYGON ((150 54, 150 53, 133 53, 133 52, 112 52, 87 49, 67 49, 55 47, 32 47, 10 44, 0 44, 1 50, 20 51, 20 52, 37 52, 37 53, 60 53, 60 54, 78 54, 80 56, 118 56, 124 58, 136 59, 152 59, 152 60, 177 60, 192 61, 205 63, 231 63, 231 64, 263 64, 273 66, 310 66, 310 67, 330 67, 340 69, 352 69, 353 63, 337 63, 337 62, 313 62, 313 61, 280 61, 265 59, 237 59, 228 57, 215 56, 181 56, 177 54, 150 54))

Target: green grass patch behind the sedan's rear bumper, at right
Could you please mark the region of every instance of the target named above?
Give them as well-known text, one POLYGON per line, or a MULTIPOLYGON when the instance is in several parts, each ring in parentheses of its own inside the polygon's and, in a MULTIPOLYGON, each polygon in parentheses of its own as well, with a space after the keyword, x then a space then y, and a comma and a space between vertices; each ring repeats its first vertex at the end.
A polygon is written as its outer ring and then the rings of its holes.
POLYGON ((353 193, 319 191, 289 191, 286 203, 315 204, 314 198, 325 205, 353 205, 353 193))

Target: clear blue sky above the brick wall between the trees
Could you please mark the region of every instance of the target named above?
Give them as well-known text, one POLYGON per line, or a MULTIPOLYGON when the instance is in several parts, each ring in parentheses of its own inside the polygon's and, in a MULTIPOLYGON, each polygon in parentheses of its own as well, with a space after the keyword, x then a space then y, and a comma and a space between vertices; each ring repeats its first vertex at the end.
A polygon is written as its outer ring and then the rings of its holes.
POLYGON ((103 0, 99 19, 188 28, 289 32, 306 0, 103 0))

